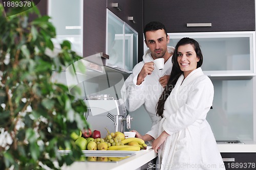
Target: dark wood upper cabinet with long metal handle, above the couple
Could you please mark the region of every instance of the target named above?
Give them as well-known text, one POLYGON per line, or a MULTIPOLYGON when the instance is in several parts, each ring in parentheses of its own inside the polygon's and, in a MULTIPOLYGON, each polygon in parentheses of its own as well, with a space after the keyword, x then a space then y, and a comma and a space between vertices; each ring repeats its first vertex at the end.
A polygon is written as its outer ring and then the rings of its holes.
POLYGON ((254 0, 147 0, 144 25, 152 20, 164 23, 167 32, 255 31, 254 0), (187 23, 211 23, 188 27, 187 23))

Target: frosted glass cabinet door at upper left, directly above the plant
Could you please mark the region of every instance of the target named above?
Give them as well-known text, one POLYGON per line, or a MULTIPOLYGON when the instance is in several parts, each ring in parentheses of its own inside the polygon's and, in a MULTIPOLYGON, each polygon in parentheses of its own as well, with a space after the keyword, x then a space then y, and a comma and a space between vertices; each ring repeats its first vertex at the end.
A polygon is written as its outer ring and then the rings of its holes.
POLYGON ((69 40, 72 50, 82 54, 83 1, 49 0, 48 15, 56 28, 56 39, 69 40))

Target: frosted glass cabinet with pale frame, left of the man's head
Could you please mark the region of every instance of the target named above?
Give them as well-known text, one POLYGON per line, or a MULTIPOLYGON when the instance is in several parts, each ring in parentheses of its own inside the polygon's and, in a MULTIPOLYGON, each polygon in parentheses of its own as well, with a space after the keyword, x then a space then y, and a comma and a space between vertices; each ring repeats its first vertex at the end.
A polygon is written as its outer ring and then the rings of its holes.
POLYGON ((107 10, 107 27, 108 65, 126 72, 132 71, 138 61, 138 33, 110 10, 107 10))

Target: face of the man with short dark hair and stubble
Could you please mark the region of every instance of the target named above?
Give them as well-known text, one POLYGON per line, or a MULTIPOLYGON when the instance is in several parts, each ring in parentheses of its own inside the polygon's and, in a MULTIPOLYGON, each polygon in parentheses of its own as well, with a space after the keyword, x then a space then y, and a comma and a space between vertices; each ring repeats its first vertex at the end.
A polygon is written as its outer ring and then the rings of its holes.
POLYGON ((147 31, 145 33, 145 43, 150 48, 153 59, 167 57, 167 44, 169 36, 166 37, 164 30, 147 31))

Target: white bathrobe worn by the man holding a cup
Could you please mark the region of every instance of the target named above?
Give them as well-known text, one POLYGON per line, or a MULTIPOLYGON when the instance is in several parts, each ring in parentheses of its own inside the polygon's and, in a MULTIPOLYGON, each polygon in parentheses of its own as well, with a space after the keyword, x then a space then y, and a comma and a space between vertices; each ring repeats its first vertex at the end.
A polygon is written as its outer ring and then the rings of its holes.
MULTIPOLYGON (((174 53, 174 47, 168 46, 167 49, 169 53, 174 53)), ((173 64, 172 57, 170 57, 165 62, 162 70, 154 69, 152 74, 146 76, 140 85, 136 85, 139 72, 143 65, 151 61, 154 61, 154 59, 151 56, 150 50, 147 50, 143 55, 143 61, 139 62, 133 68, 133 74, 125 80, 121 89, 121 95, 126 109, 130 112, 137 110, 143 105, 154 125, 158 120, 156 116, 156 105, 163 92, 163 87, 159 83, 159 79, 164 75, 170 75, 173 64)))

